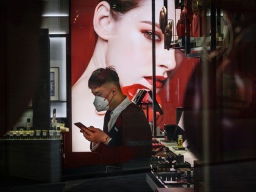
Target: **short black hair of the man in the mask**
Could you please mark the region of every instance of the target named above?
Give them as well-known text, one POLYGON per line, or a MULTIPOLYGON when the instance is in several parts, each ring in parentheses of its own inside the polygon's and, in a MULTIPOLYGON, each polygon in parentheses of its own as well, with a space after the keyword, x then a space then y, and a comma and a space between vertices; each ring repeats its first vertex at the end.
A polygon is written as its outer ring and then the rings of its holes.
POLYGON ((93 71, 91 77, 88 80, 88 87, 90 89, 92 87, 101 87, 105 83, 113 83, 119 88, 119 90, 121 90, 119 77, 113 66, 98 68, 93 71))

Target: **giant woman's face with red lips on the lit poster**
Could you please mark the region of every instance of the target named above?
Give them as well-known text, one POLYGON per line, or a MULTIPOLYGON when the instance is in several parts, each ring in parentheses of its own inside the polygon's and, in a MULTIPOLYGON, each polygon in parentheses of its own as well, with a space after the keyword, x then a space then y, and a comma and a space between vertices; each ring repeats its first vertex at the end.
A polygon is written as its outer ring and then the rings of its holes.
MULTIPOLYGON (((162 7, 163 1, 155 2, 157 92, 163 87, 168 74, 174 72, 185 57, 179 49, 164 49, 164 35, 159 27, 159 13, 162 7)), ((174 15, 174 8, 169 10, 173 12, 168 13, 168 19, 169 15, 174 15)), ((122 87, 141 84, 152 90, 151 12, 151 1, 144 1, 139 7, 124 13, 118 21, 113 21, 110 26, 106 63, 107 66, 115 66, 122 87)))

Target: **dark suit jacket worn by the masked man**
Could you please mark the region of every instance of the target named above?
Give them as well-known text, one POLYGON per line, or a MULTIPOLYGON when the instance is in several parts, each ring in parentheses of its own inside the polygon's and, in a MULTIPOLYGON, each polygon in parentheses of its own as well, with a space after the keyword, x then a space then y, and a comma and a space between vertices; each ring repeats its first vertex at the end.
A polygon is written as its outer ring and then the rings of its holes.
POLYGON ((102 165, 147 162, 152 153, 152 133, 143 110, 129 104, 108 132, 110 113, 105 114, 103 130, 112 140, 108 145, 101 143, 95 151, 102 155, 102 165))

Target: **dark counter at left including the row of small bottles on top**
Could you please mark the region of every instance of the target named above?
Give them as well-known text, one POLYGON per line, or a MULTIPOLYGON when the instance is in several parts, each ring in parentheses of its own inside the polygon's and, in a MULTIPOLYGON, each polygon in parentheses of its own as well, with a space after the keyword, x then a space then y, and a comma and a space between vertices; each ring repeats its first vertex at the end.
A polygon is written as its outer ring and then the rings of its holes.
POLYGON ((62 135, 50 130, 11 130, 0 140, 1 175, 43 182, 62 179, 62 135))

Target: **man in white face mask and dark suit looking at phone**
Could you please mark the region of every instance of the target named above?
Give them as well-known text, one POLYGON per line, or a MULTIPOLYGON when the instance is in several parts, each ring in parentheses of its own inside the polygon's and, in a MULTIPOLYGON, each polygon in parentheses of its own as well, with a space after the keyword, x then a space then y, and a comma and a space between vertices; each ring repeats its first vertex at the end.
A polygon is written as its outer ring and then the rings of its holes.
POLYGON ((148 119, 138 105, 123 94, 115 69, 99 68, 93 71, 88 87, 94 94, 98 112, 107 110, 103 131, 93 126, 80 132, 91 141, 91 151, 99 152, 102 165, 141 167, 148 163, 152 153, 152 133, 148 119))

